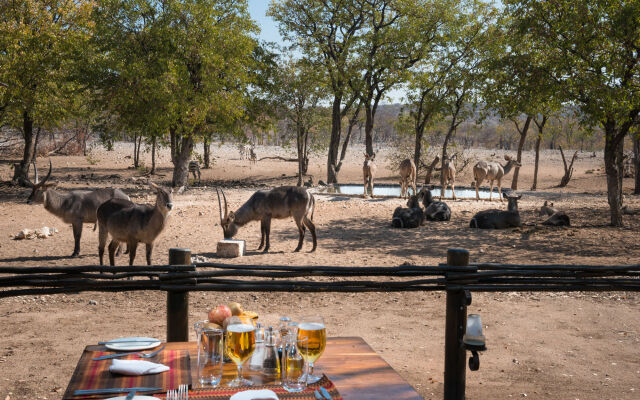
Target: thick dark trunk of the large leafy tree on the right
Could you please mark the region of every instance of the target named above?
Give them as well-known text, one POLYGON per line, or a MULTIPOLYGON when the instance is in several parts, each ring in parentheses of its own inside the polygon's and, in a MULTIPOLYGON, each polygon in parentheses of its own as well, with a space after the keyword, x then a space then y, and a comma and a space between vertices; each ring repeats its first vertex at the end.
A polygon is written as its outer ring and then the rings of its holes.
POLYGON ((605 124, 604 167, 607 173, 607 198, 611 225, 622 226, 622 156, 624 135, 620 137, 615 123, 605 124))

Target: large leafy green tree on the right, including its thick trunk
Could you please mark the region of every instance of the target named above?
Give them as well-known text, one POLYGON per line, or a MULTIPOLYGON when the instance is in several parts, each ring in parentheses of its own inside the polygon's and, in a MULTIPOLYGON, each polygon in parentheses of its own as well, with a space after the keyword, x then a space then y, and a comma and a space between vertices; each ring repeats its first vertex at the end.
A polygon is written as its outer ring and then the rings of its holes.
POLYGON ((507 0, 506 10, 544 55, 547 74, 605 134, 611 225, 622 225, 623 143, 640 124, 640 3, 507 0))

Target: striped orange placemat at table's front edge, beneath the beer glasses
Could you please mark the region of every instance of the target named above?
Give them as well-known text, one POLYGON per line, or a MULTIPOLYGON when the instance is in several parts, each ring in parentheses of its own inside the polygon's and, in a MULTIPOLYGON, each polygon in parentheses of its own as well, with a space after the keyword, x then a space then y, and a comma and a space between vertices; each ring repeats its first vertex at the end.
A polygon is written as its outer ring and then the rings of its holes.
MULTIPOLYGON (((230 388, 226 386, 220 386, 211 389, 192 389, 189 390, 189 400, 228 400, 229 397, 234 395, 235 393, 241 392, 243 390, 260 390, 260 389, 269 389, 273 390, 280 400, 316 400, 313 392, 319 387, 323 387, 327 389, 333 400, 343 400, 340 392, 336 386, 331 382, 326 375, 322 375, 322 379, 320 379, 316 383, 312 383, 302 392, 291 393, 287 392, 282 385, 262 385, 262 386, 245 386, 240 388, 230 388)), ((161 399, 166 399, 165 395, 156 395, 161 399)))

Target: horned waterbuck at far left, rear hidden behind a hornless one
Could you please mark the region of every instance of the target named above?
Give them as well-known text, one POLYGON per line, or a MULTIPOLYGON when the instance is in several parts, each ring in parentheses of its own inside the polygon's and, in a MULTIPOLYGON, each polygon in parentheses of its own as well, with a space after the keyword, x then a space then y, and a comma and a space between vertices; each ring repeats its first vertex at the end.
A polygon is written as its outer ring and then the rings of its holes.
POLYGON ((31 194, 27 198, 27 204, 44 204, 44 208, 51 214, 71 224, 73 227, 73 239, 75 245, 71 257, 80 254, 80 237, 82 236, 83 223, 96 222, 96 210, 100 204, 109 199, 129 200, 120 189, 97 189, 97 190, 73 190, 71 192, 59 192, 53 189, 57 183, 48 182, 51 177, 53 165, 49 160, 49 173, 42 181, 38 181, 38 168, 33 163, 34 182, 27 181, 31 186, 31 194))

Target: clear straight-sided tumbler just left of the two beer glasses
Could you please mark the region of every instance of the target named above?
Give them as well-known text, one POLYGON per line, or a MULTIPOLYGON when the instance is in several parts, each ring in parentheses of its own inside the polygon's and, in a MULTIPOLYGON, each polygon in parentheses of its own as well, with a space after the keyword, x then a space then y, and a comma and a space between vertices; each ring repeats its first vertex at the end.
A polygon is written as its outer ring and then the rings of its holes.
POLYGON ((216 386, 222 379, 224 332, 203 328, 198 342, 198 381, 201 386, 216 386))

